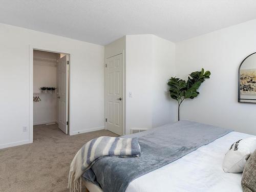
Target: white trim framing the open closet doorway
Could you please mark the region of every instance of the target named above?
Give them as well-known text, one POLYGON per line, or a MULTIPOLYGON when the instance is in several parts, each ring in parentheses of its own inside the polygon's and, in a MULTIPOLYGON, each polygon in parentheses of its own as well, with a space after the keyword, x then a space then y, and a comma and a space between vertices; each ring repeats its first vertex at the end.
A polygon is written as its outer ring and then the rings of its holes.
MULTIPOLYGON (((47 51, 47 52, 53 52, 53 53, 65 53, 69 54, 69 65, 70 65, 70 60, 71 60, 71 54, 68 53, 67 50, 56 50, 56 49, 51 49, 51 48, 46 48, 46 47, 40 47, 40 46, 33 46, 29 45, 29 143, 33 143, 33 84, 34 84, 34 79, 33 79, 33 69, 34 69, 34 50, 39 50, 39 51, 47 51)), ((70 66, 69 66, 69 74, 68 74, 68 135, 71 133, 71 123, 70 123, 70 66)))

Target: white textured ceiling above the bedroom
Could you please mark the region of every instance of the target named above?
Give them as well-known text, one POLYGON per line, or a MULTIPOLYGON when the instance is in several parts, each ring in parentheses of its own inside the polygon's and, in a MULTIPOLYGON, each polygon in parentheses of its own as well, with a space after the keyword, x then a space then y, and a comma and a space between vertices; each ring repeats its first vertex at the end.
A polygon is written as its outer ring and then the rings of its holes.
POLYGON ((180 41, 256 18, 255 0, 0 0, 0 23, 99 45, 129 34, 180 41))

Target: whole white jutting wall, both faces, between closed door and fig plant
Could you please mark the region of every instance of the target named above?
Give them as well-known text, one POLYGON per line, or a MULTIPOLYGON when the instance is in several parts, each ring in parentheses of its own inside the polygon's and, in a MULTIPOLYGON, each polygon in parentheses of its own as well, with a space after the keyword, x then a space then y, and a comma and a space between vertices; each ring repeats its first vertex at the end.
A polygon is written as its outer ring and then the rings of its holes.
POLYGON ((175 74, 175 44, 155 35, 126 35, 126 133, 174 121, 167 81, 175 74), (132 97, 129 97, 132 92, 132 97))

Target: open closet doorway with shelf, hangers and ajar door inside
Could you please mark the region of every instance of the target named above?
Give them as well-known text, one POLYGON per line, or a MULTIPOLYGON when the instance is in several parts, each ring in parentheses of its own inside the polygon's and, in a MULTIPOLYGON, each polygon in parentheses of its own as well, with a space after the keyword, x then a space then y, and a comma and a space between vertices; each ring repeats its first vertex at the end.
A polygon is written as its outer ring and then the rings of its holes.
POLYGON ((69 134, 70 55, 33 49, 33 126, 69 134))

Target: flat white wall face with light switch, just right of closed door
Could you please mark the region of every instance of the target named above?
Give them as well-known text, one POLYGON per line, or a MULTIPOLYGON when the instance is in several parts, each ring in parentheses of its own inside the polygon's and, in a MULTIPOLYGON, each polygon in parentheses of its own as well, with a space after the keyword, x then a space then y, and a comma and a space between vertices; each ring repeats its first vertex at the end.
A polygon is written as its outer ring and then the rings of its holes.
POLYGON ((126 35, 126 133, 152 127, 152 35, 126 35), (129 97, 132 92, 132 97, 129 97))

